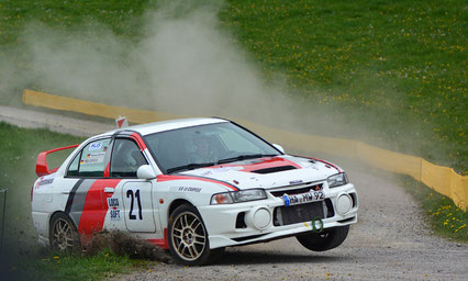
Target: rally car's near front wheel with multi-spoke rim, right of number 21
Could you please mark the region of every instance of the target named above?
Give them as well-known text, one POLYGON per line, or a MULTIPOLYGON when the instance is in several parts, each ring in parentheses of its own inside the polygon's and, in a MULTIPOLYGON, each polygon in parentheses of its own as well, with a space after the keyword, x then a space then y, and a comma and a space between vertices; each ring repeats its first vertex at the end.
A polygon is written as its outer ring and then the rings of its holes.
POLYGON ((210 250, 208 232, 200 213, 189 204, 178 206, 169 216, 169 250, 177 263, 202 266, 222 249, 210 250))

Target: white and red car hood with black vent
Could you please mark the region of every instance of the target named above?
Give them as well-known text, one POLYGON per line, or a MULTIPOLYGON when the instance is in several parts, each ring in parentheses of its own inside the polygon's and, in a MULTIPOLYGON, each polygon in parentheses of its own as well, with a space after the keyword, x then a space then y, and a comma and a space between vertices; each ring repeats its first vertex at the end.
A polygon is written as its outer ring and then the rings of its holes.
POLYGON ((239 189, 271 189, 325 180, 342 171, 323 160, 282 155, 189 170, 181 175, 224 181, 239 189))

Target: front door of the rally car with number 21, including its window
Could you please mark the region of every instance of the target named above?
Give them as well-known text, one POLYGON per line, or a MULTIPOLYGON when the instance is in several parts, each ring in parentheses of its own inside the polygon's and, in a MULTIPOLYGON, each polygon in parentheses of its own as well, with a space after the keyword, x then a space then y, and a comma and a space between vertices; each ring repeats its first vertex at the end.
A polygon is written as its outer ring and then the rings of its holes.
POLYGON ((134 233, 156 232, 152 200, 153 183, 136 176, 138 167, 147 164, 134 140, 125 137, 115 138, 112 146, 110 178, 121 179, 122 216, 126 229, 134 233))

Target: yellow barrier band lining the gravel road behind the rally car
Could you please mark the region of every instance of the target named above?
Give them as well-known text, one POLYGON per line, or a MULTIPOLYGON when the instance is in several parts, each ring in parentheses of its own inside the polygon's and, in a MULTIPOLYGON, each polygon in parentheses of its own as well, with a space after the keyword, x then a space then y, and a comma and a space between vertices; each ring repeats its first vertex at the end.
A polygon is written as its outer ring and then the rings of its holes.
MULTIPOLYGON (((107 119, 126 116, 127 121, 132 123, 149 123, 161 120, 187 117, 163 112, 112 106, 32 90, 24 90, 23 102, 30 105, 79 112, 107 119)), ((249 121, 237 121, 239 124, 267 139, 271 139, 279 144, 288 144, 289 147, 359 158, 380 169, 409 175, 441 194, 450 198, 458 207, 467 210, 468 176, 460 176, 452 168, 437 166, 421 157, 393 153, 358 140, 285 132, 278 128, 258 125, 249 121)))

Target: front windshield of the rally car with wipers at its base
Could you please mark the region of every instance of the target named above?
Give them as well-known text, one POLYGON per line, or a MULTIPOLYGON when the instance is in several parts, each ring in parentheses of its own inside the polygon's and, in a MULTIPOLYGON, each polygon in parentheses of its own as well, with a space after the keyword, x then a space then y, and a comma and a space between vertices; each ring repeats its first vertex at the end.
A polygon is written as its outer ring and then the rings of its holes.
POLYGON ((145 140, 164 173, 280 155, 270 144, 230 122, 155 133, 145 140))

